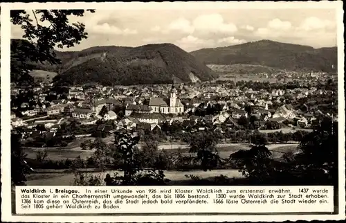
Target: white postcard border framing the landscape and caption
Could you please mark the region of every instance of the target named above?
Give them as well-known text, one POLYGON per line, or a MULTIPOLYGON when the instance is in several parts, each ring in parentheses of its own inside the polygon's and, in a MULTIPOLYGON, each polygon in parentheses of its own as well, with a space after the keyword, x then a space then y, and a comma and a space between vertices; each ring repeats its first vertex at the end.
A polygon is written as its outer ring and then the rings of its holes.
POLYGON ((344 26, 342 1, 309 2, 117 2, 117 3, 1 3, 1 220, 5 222, 223 222, 345 219, 345 93, 344 93, 344 26), (183 5, 183 6, 182 6, 183 5), (337 10, 338 21, 338 119, 339 119, 339 214, 338 215, 161 215, 161 216, 12 216, 10 187, 10 11, 13 9, 95 8, 117 10, 164 9, 287 9, 324 8, 337 10), (5 184, 4 184, 5 183, 5 184))

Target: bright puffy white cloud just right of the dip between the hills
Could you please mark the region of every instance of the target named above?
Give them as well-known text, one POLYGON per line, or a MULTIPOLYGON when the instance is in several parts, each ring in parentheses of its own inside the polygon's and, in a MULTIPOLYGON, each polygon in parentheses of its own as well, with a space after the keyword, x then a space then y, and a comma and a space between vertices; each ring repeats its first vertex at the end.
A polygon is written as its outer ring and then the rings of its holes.
POLYGON ((219 14, 201 15, 192 22, 195 30, 206 33, 234 33, 237 26, 226 23, 219 14))

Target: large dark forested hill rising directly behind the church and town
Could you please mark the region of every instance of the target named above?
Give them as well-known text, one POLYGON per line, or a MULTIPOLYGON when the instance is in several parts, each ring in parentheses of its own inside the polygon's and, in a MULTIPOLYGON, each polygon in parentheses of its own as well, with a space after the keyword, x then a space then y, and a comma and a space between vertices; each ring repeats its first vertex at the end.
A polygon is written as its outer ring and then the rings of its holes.
POLYGON ((208 66, 174 44, 95 46, 55 53, 62 64, 36 64, 36 69, 57 72, 54 80, 64 84, 165 84, 217 78, 208 66))

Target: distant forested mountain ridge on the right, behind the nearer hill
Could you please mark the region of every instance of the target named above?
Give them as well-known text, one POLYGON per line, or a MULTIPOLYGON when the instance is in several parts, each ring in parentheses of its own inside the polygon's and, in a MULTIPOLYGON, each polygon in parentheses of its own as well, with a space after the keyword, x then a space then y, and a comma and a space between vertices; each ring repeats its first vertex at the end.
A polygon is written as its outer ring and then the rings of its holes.
POLYGON ((331 71, 337 67, 337 48, 313 48, 271 40, 191 52, 205 64, 254 64, 291 71, 331 71))

